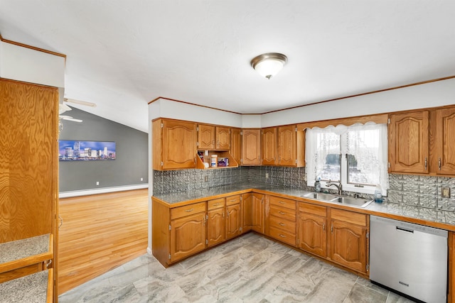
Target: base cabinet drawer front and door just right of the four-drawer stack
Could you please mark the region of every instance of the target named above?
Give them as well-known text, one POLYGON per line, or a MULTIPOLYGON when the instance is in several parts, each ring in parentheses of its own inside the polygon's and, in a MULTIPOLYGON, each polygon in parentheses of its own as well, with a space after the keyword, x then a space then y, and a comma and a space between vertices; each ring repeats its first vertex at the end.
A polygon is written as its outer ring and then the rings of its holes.
POLYGON ((299 202, 297 246, 323 258, 327 256, 327 208, 299 202))

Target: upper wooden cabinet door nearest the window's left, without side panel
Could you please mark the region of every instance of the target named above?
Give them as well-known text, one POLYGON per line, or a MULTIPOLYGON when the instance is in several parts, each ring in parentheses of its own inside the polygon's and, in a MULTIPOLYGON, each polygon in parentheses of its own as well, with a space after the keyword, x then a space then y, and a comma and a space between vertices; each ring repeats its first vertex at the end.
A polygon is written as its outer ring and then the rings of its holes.
POLYGON ((278 165, 296 166, 296 126, 278 126, 278 165))

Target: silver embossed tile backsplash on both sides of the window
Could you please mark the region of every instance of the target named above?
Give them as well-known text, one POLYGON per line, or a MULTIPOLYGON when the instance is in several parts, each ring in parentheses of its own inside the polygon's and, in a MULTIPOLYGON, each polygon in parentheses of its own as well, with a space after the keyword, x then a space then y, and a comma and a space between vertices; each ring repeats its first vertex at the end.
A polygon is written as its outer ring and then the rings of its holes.
MULTIPOLYGON (((247 182, 314 190, 306 185, 305 167, 242 166, 219 170, 154 170, 153 182, 154 194, 247 182)), ((389 184, 388 202, 455 211, 455 178, 390 174, 389 184), (450 198, 441 197, 442 187, 449 187, 450 198)))

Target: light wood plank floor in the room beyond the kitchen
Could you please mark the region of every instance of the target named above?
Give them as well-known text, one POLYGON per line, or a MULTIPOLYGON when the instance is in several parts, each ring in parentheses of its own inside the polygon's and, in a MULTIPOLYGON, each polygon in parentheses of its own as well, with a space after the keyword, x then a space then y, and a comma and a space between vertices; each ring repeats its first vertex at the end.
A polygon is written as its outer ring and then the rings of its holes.
POLYGON ((60 199, 58 294, 147 248, 148 189, 60 199))

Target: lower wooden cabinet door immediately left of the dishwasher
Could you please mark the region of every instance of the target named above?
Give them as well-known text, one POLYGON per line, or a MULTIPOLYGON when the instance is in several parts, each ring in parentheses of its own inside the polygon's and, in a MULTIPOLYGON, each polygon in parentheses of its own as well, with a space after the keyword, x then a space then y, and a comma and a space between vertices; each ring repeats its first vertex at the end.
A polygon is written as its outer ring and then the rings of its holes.
POLYGON ((331 220, 330 258, 358 272, 367 272, 367 228, 331 220))

